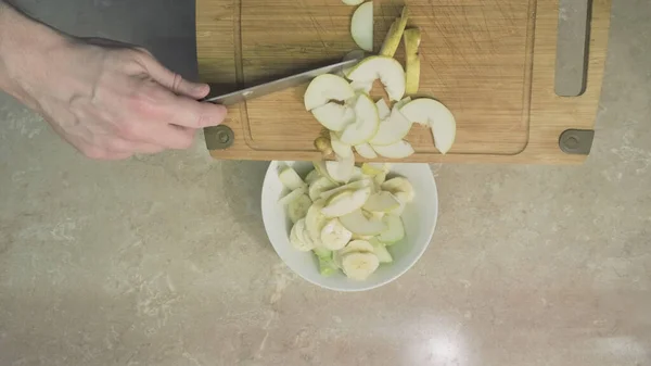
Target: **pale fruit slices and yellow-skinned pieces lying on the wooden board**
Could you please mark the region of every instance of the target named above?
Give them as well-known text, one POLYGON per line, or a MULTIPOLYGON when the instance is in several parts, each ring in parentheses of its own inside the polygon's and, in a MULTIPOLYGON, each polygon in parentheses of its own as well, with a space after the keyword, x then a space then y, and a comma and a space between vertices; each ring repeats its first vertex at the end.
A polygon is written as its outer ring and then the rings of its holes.
MULTIPOLYGON (((350 26, 353 38, 367 51, 372 49, 372 2, 365 2, 355 11, 350 26)), ((352 172, 355 162, 353 149, 366 159, 404 159, 413 154, 413 148, 405 140, 413 123, 431 128, 435 147, 443 154, 455 142, 457 124, 450 111, 434 99, 410 97, 419 88, 421 35, 418 28, 407 28, 407 21, 408 10, 404 8, 379 55, 368 56, 344 71, 345 78, 331 74, 316 77, 304 94, 305 109, 328 130, 327 136, 315 141, 317 148, 324 153, 333 151, 335 163, 342 165, 345 174, 352 172), (393 58, 401 38, 407 73, 393 58), (393 105, 384 99, 373 101, 369 92, 375 80, 382 83, 393 105)))

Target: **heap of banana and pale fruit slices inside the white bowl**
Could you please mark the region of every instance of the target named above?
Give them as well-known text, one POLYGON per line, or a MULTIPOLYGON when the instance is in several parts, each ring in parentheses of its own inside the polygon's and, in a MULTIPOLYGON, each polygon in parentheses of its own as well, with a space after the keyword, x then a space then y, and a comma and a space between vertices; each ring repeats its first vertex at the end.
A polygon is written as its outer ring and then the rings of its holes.
POLYGON ((350 279, 367 279, 382 263, 392 263, 386 247, 405 238, 401 215, 413 200, 413 188, 404 177, 386 179, 388 164, 354 166, 349 180, 335 179, 332 167, 315 162, 303 179, 292 167, 280 169, 280 181, 290 190, 286 205, 294 223, 290 242, 312 251, 319 272, 340 269, 350 279))

